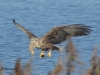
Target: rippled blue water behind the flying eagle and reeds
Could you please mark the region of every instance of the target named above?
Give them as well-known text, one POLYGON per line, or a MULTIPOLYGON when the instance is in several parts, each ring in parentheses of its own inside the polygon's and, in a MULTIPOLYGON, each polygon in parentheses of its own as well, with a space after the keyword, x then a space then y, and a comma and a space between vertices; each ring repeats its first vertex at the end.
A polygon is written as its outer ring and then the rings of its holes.
MULTIPOLYGON (((32 57, 28 51, 29 39, 14 24, 12 19, 33 32, 43 36, 54 26, 81 23, 91 26, 90 35, 73 38, 83 61, 89 62, 92 49, 100 45, 99 0, 1 0, 0 1, 0 61, 5 67, 14 67, 18 57, 22 64, 32 57)), ((64 45, 64 44, 61 44, 64 45)), ((47 75, 56 64, 59 53, 52 58, 39 58, 35 49, 34 64, 40 75, 47 75)), ((7 73, 10 71, 7 71, 7 73)))

